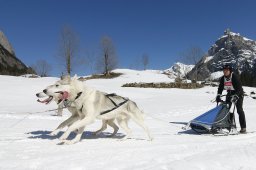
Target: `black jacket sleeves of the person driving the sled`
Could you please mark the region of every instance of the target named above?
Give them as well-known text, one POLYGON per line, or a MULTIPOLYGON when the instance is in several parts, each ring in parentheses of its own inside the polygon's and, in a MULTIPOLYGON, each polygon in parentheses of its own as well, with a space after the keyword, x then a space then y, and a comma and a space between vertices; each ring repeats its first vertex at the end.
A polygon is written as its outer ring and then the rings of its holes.
MULTIPOLYGON (((228 90, 228 94, 229 95, 238 95, 238 96, 243 96, 244 95, 244 91, 242 88, 242 84, 240 79, 237 77, 237 75, 235 75, 234 73, 232 73, 232 85, 234 87, 235 90, 228 90)), ((220 78, 220 84, 219 84, 219 88, 218 88, 218 94, 222 94, 222 91, 224 89, 224 76, 222 76, 220 78)))

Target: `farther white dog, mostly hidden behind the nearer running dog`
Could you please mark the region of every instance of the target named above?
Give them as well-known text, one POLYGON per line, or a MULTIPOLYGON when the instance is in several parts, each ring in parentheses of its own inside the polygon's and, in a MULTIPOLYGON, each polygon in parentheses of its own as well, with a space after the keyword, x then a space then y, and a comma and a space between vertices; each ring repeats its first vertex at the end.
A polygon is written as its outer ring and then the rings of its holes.
MULTIPOLYGON (((70 79, 70 77, 62 77, 60 81, 58 81, 58 83, 62 83, 65 82, 66 79, 70 79)), ((49 86, 50 87, 50 86, 49 86)), ((43 97, 48 97, 47 99, 44 100, 37 100, 38 102, 41 103, 45 103, 45 104, 49 104, 52 100, 54 100, 57 105, 58 105, 58 111, 57 111, 57 115, 62 115, 62 111, 63 108, 67 108, 69 110, 69 112, 71 113, 71 116, 65 120, 64 122, 62 122, 50 135, 54 136, 57 135, 63 128, 65 128, 66 126, 70 126, 72 125, 74 122, 76 122, 77 120, 82 119, 84 116, 79 114, 78 110, 72 106, 65 106, 64 102, 61 102, 61 97, 62 95, 60 93, 45 93, 46 91, 44 90, 43 92, 37 93, 36 96, 38 98, 43 98, 43 97)), ((107 129, 107 125, 111 126, 114 129, 114 132, 109 135, 109 137, 114 136, 119 128, 118 126, 114 123, 114 119, 110 119, 110 120, 102 120, 102 127, 97 130, 96 132, 93 132, 94 135, 98 135, 100 134, 102 131, 104 131, 105 129, 107 129)))

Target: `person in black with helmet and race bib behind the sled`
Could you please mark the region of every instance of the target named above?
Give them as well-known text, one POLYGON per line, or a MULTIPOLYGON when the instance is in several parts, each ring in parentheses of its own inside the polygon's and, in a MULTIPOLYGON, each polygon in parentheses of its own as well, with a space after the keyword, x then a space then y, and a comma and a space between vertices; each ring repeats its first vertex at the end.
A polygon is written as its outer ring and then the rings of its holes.
MULTIPOLYGON (((233 73, 232 66, 225 64, 223 66, 224 75, 220 78, 216 102, 221 102, 223 90, 227 90, 226 102, 236 101, 237 113, 239 115, 240 133, 246 133, 246 120, 243 110, 244 91, 240 79, 233 73)), ((230 105, 231 106, 231 105, 230 105)))

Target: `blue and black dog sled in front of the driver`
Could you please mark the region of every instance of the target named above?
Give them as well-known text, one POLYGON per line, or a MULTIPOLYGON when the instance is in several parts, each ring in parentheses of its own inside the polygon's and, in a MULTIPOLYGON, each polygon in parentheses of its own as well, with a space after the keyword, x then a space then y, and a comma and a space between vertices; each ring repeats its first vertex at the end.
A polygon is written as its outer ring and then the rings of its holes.
POLYGON ((183 129, 191 128, 199 134, 236 135, 235 103, 222 101, 215 108, 191 120, 183 129))

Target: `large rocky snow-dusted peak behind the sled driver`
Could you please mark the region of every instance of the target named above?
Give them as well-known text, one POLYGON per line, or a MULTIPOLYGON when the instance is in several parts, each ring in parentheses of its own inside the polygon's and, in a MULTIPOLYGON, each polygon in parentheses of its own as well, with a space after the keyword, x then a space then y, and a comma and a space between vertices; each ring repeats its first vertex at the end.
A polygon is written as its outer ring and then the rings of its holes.
POLYGON ((220 71, 226 63, 232 64, 238 73, 253 73, 256 66, 256 41, 227 29, 208 50, 208 55, 188 73, 188 77, 197 77, 198 80, 217 78, 216 75, 222 75, 220 71))

